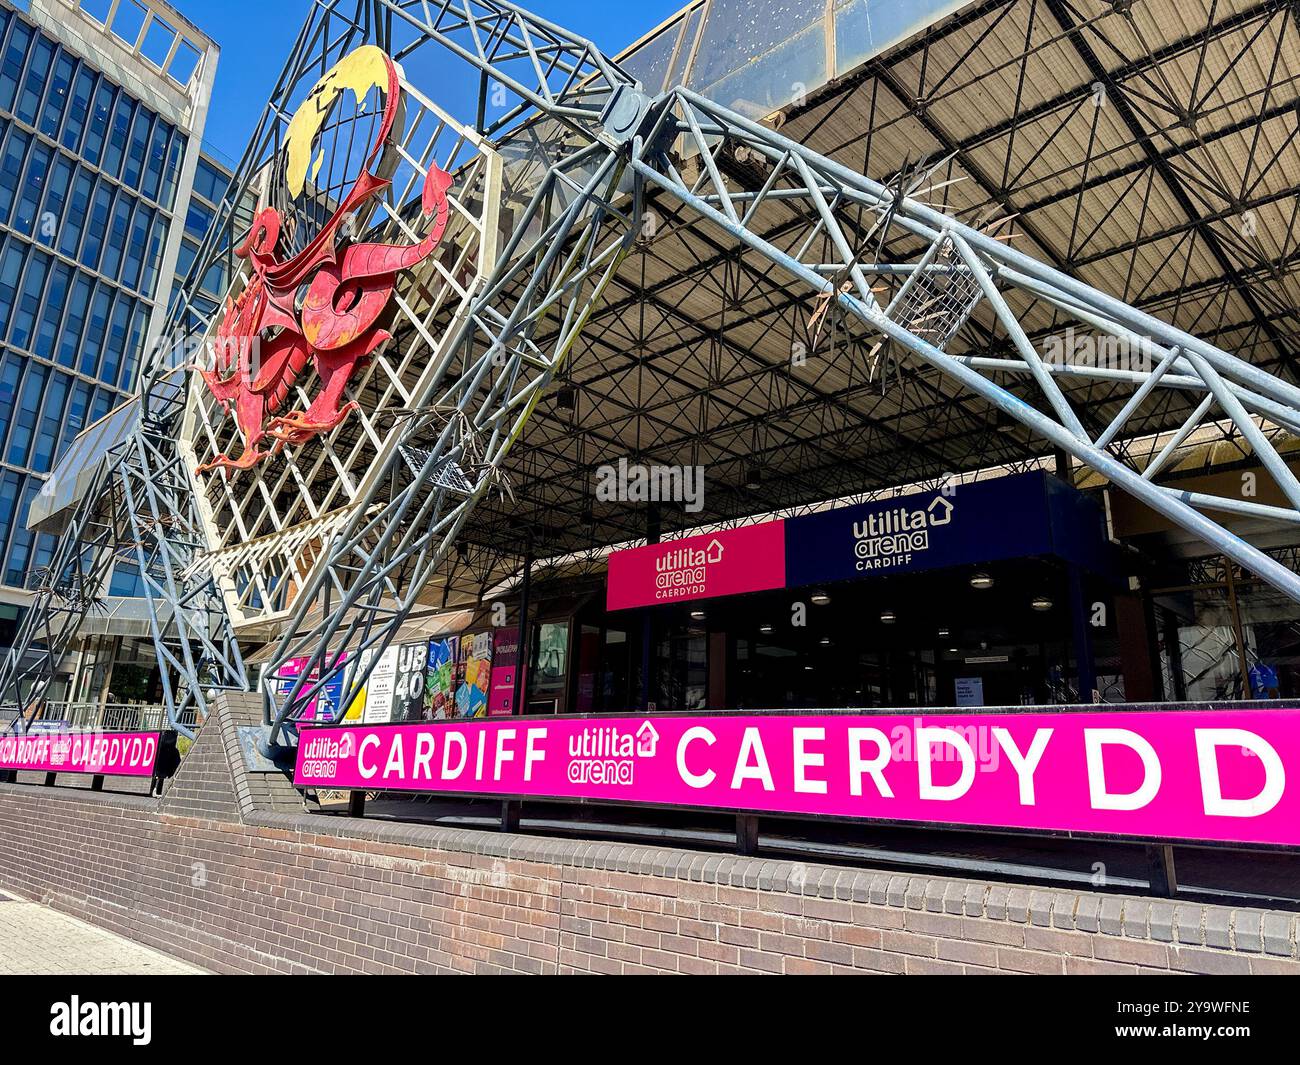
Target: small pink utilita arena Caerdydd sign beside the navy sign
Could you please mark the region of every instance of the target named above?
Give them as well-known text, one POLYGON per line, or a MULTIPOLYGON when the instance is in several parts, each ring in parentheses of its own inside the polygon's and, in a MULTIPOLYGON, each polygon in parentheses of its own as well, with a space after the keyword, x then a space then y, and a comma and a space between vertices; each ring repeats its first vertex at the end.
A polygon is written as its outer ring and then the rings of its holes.
POLYGON ((764 521, 610 555, 610 610, 785 586, 785 523, 764 521))

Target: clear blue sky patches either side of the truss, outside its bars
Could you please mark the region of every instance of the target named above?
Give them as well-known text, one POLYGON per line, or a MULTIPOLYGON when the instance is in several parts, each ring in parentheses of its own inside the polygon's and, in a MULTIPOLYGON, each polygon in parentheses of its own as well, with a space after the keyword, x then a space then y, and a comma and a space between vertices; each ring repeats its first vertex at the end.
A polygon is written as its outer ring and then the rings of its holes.
MULTIPOLYGON (((309 0, 172 3, 221 46, 204 139, 230 161, 237 161, 307 17, 309 0)), ((685 4, 686 0, 637 0, 636 4, 532 0, 523 7, 590 38, 612 55, 685 4)))

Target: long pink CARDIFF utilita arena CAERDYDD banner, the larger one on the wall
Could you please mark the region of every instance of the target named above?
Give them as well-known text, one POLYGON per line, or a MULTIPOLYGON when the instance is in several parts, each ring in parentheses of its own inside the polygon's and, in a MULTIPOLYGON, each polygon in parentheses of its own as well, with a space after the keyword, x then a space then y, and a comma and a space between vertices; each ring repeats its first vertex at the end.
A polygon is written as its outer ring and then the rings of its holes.
POLYGON ((1300 844, 1300 710, 304 728, 300 787, 1300 844))

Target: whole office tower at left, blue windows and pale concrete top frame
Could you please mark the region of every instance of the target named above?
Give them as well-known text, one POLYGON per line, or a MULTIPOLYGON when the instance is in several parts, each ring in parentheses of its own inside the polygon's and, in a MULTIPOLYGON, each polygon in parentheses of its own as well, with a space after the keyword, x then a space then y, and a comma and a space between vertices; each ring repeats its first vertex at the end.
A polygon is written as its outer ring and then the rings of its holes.
POLYGON ((216 60, 161 3, 0 0, 0 646, 55 549, 31 501, 130 394, 211 215, 191 189, 216 60))

